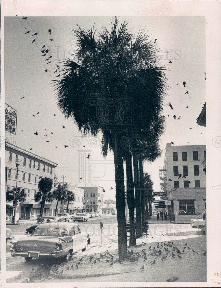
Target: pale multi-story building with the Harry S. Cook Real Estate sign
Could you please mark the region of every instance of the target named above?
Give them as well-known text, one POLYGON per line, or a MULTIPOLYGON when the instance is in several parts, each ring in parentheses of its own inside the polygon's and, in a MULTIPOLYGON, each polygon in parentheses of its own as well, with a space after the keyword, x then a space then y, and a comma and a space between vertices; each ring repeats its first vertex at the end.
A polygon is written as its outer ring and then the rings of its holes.
POLYGON ((190 223, 193 215, 206 209, 205 159, 206 145, 166 144, 164 167, 160 169, 160 192, 165 197, 154 202, 168 214, 175 213, 179 223, 190 223))

